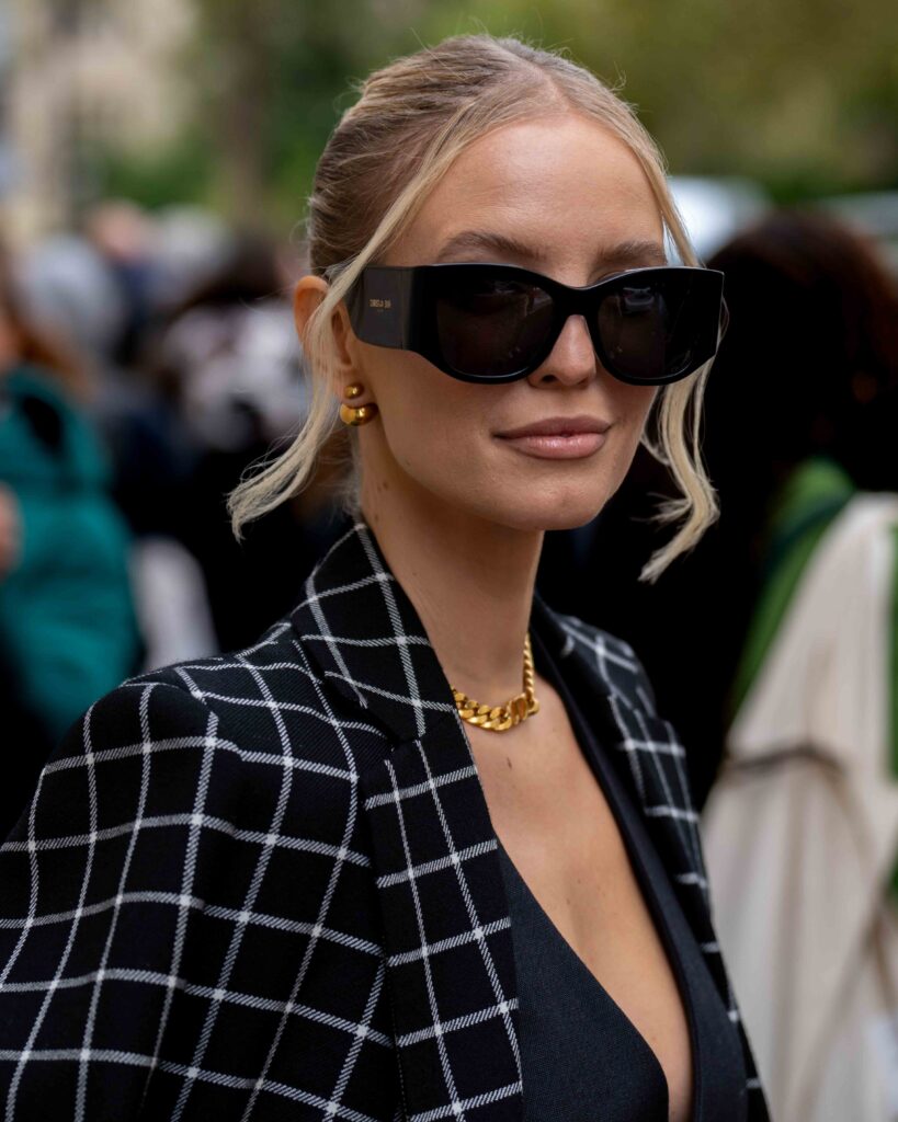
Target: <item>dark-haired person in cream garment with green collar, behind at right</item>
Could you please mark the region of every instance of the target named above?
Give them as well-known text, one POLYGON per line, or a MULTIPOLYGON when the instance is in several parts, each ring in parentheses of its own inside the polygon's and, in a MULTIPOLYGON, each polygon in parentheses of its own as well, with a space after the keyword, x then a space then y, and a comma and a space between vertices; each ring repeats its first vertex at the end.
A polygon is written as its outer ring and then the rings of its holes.
POLYGON ((896 285, 819 213, 775 212, 713 265, 732 322, 706 447, 723 511, 745 515, 721 562, 741 553, 757 588, 703 816, 720 941, 773 1116, 880 1122, 898 1033, 896 285))

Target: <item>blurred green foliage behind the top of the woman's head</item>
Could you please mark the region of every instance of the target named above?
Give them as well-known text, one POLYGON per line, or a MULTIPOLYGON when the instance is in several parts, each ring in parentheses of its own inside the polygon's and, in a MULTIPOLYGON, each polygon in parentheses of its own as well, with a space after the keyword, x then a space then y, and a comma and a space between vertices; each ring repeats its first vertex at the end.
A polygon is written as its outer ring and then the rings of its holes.
POLYGON ((193 0, 196 136, 111 181, 211 196, 284 229, 365 75, 447 35, 560 48, 633 103, 681 174, 748 175, 784 201, 898 184, 891 0, 193 0), (201 166, 202 165, 202 166, 201 166), (210 182, 216 186, 211 188, 210 182))

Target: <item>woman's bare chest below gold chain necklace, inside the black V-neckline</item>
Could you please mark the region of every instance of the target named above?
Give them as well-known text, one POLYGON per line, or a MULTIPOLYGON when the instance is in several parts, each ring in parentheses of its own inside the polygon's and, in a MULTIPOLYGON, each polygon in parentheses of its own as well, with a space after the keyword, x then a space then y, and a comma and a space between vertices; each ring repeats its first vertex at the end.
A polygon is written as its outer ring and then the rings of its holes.
MULTIPOLYGON (((547 697, 543 690, 543 697, 547 697)), ((672 966, 606 795, 560 701, 526 736, 471 727, 493 828, 571 950, 656 1052, 670 1119, 691 1109, 688 1021, 672 966)))

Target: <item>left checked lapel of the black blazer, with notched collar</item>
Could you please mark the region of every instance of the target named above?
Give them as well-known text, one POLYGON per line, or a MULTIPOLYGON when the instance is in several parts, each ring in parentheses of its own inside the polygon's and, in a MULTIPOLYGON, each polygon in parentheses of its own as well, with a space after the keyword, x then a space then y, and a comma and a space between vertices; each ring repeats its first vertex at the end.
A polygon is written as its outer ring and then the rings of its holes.
POLYGON ((405 1118, 521 1122, 511 920, 449 682, 364 521, 332 546, 304 591, 293 614, 303 644, 324 679, 392 742, 359 788, 405 1118))

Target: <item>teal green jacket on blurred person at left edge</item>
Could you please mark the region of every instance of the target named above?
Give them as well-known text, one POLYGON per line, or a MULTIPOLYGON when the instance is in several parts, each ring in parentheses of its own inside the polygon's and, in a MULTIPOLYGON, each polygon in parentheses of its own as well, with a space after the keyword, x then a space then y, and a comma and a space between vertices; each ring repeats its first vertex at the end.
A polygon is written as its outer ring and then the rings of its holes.
POLYGON ((141 643, 130 535, 88 420, 34 367, 0 375, 0 481, 16 493, 21 552, 0 574, 0 649, 19 701, 53 741, 134 672, 141 643))

